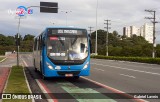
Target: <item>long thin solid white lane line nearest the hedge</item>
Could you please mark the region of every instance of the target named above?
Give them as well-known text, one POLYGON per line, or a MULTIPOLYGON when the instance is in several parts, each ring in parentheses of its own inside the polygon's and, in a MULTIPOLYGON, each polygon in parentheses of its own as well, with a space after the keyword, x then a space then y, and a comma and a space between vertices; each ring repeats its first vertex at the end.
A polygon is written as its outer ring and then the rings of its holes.
POLYGON ((148 72, 148 71, 142 71, 142 70, 135 70, 135 69, 128 69, 128 68, 122 68, 122 67, 110 66, 110 65, 103 65, 103 64, 97 64, 97 63, 92 63, 92 64, 105 66, 105 67, 112 67, 112 68, 116 68, 116 69, 124 69, 124 70, 129 70, 129 71, 134 71, 134 72, 146 73, 146 74, 159 75, 160 76, 160 73, 154 73, 154 72, 148 72))

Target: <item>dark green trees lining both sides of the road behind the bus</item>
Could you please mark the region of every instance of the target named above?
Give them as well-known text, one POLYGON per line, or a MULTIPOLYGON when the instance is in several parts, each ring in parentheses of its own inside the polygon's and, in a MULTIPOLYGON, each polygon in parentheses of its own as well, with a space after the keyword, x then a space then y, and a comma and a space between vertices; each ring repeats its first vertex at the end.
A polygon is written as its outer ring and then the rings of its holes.
MULTIPOLYGON (((98 55, 106 55, 106 31, 98 30, 98 55)), ((92 52, 95 51, 96 32, 91 33, 92 52)), ((34 35, 27 34, 20 36, 20 52, 32 52, 34 35)), ((15 36, 5 36, 0 34, 0 55, 6 51, 16 51, 15 36)), ((160 44, 155 47, 156 57, 160 58, 160 44)), ((152 57, 152 44, 141 36, 132 35, 128 38, 118 34, 117 31, 108 34, 108 53, 109 56, 120 57, 152 57)))

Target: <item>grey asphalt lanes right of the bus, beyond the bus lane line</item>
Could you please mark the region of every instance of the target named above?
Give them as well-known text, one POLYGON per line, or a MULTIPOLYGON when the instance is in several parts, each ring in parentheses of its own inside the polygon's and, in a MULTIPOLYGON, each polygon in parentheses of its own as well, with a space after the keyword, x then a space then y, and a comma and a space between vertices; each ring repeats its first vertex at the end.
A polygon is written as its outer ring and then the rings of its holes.
POLYGON ((160 65, 92 59, 89 78, 126 93, 160 93, 160 65))

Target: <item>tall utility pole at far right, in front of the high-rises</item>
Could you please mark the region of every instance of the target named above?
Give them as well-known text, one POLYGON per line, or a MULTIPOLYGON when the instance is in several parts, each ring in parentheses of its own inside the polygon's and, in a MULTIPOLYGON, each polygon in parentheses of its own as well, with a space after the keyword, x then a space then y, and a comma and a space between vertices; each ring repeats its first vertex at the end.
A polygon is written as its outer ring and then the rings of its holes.
POLYGON ((156 37, 155 37, 155 32, 156 32, 156 11, 155 10, 145 10, 146 12, 149 12, 151 14, 153 14, 153 17, 145 17, 145 19, 152 19, 152 23, 153 23, 153 49, 152 49, 152 58, 155 58, 155 47, 156 47, 156 37))

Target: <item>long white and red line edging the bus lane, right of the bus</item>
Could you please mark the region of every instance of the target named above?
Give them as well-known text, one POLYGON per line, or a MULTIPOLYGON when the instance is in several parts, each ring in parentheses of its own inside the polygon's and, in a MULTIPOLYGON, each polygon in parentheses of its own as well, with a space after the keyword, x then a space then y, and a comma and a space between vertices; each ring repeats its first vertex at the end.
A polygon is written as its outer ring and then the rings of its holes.
MULTIPOLYGON (((105 88, 105 89, 109 89, 109 90, 111 90, 111 91, 113 91, 113 92, 115 92, 115 93, 126 93, 126 92, 124 92, 124 91, 121 91, 121 90, 118 90, 118 89, 116 89, 116 88, 113 88, 113 87, 110 87, 110 86, 107 86, 107 85, 105 85, 105 84, 102 84, 102 83, 100 83, 100 82, 97 82, 97 81, 94 81, 94 80, 92 80, 92 79, 89 79, 89 78, 86 78, 86 77, 83 77, 83 76, 81 76, 81 78, 83 78, 83 79, 85 79, 85 80, 87 80, 87 81, 90 81, 90 82, 92 82, 92 83, 94 83, 94 84, 96 84, 96 85, 99 85, 99 86, 101 86, 101 87, 103 87, 103 88, 105 88)), ((129 94, 127 94, 126 93, 126 95, 128 96, 128 97, 133 97, 133 96, 130 96, 129 94)), ((134 99, 135 101, 137 101, 137 102, 149 102, 149 101, 146 101, 146 100, 144 100, 144 99, 134 99)))

